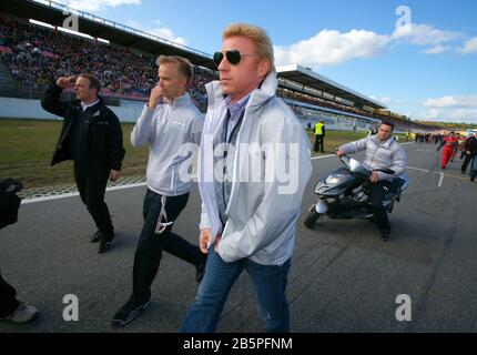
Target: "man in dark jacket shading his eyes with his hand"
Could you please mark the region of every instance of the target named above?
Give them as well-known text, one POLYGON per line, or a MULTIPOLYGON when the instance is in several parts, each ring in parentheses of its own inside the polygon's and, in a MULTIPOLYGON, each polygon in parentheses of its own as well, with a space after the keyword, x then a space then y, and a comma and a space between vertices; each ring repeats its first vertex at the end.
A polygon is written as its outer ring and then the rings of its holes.
POLYGON ((91 242, 101 242, 99 253, 103 253, 114 239, 104 193, 108 179, 116 181, 120 176, 124 149, 119 119, 98 95, 100 90, 99 80, 90 74, 61 77, 47 89, 41 106, 64 118, 51 165, 74 161, 81 200, 98 226, 91 242), (60 101, 61 91, 71 87, 77 100, 60 101))

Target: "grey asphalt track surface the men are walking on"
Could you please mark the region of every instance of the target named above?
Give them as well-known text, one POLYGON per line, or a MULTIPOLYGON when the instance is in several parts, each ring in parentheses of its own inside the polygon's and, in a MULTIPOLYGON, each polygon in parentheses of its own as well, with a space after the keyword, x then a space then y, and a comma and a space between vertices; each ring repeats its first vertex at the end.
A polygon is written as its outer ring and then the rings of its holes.
MULTIPOLYGON (((314 184, 341 164, 333 156, 313 161, 288 275, 293 332, 477 331, 476 183, 460 174, 460 161, 443 178, 434 144, 404 146, 412 184, 390 216, 390 243, 382 243, 365 220, 303 226, 314 184), (410 322, 396 320, 400 294, 410 296, 410 322)), ((176 332, 196 293, 195 268, 166 253, 151 306, 121 329, 110 325, 131 292, 144 192, 140 186, 106 193, 116 239, 103 255, 89 243, 94 227, 78 196, 23 204, 19 222, 0 231, 0 267, 18 297, 40 314, 26 325, 0 322, 0 332, 176 332), (67 294, 79 298, 78 322, 62 317, 67 294)), ((194 243, 199 206, 194 187, 174 230, 194 243)), ((244 273, 217 332, 263 331, 244 273)))

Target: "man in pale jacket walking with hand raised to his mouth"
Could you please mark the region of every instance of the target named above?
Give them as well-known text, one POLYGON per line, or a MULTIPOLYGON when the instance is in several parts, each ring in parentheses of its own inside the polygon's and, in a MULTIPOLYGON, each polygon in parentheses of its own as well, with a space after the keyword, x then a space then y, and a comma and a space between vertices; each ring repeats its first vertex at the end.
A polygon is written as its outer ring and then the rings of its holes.
POLYGON ((206 262, 199 246, 172 232, 191 189, 190 175, 185 176, 182 169, 191 161, 191 144, 200 144, 203 126, 203 115, 186 92, 192 81, 192 64, 177 55, 161 55, 156 64, 159 84, 152 89, 131 133, 132 145, 150 146, 148 191, 144 225, 134 255, 132 295, 114 314, 114 326, 126 325, 149 306, 162 251, 193 264, 197 282, 203 277, 206 262))

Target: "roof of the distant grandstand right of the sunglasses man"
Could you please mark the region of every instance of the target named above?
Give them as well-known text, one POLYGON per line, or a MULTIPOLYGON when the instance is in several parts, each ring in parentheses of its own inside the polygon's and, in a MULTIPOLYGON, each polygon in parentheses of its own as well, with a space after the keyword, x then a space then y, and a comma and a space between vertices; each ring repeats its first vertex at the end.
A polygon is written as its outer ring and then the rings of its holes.
POLYGON ((312 95, 323 97, 323 99, 335 100, 336 97, 352 101, 355 105, 369 106, 372 109, 386 109, 380 102, 367 98, 352 89, 348 89, 337 82, 319 75, 311 69, 292 64, 277 68, 278 78, 283 87, 308 93, 312 95), (318 92, 316 92, 318 91, 318 92), (332 98, 323 95, 328 93, 332 98))

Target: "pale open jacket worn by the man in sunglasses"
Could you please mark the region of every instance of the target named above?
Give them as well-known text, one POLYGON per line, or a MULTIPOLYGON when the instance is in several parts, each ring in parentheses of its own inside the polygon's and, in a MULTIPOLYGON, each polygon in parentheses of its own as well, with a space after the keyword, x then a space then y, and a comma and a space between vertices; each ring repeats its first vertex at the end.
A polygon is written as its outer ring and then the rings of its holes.
POLYGON ((312 173, 309 140, 293 111, 276 97, 276 72, 272 72, 245 106, 222 231, 213 180, 213 138, 221 131, 226 105, 220 82, 206 85, 209 108, 199 152, 200 227, 212 230, 212 244, 221 236, 217 253, 225 262, 250 258, 280 265, 293 254, 296 221, 312 173), (286 153, 280 152, 281 146, 286 153))

